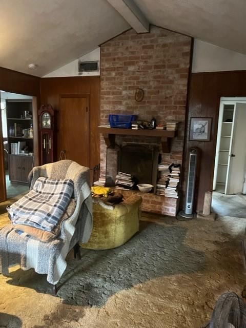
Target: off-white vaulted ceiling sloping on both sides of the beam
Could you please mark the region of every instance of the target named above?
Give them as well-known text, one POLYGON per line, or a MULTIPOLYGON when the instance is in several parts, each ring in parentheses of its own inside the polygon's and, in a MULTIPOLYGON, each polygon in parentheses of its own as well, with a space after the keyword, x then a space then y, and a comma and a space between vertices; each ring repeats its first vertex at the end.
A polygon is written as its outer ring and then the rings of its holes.
MULTIPOLYGON (((43 76, 90 52, 130 28, 120 3, 132 0, 1 0, 0 66, 43 76), (38 65, 35 71, 30 63, 38 65)), ((245 0, 135 0, 134 5, 145 22, 246 54, 245 0)))

